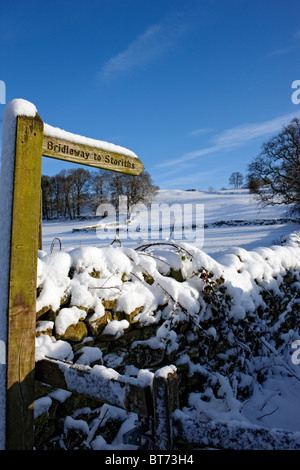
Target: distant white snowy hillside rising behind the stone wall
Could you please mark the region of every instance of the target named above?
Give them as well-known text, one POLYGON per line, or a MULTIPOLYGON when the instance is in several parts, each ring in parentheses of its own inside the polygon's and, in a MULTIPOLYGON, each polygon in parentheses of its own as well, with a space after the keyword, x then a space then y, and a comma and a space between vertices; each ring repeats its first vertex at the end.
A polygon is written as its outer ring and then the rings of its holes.
POLYGON ((67 248, 79 244, 107 245, 116 235, 122 245, 133 246, 139 239, 158 240, 171 234, 179 240, 183 234, 185 242, 218 256, 232 246, 253 249, 278 243, 282 237, 299 231, 300 222, 300 217, 291 217, 289 206, 262 207, 247 189, 159 190, 151 207, 141 209, 133 214, 129 224, 125 213, 119 220, 115 215, 101 218, 95 217, 95 212, 88 207, 80 220, 44 221, 44 247, 49 248, 55 237, 67 248), (195 216, 196 208, 201 207, 203 218, 201 210, 195 216), (98 234, 96 227, 101 229, 98 234), (203 233, 200 233, 201 228, 203 233))

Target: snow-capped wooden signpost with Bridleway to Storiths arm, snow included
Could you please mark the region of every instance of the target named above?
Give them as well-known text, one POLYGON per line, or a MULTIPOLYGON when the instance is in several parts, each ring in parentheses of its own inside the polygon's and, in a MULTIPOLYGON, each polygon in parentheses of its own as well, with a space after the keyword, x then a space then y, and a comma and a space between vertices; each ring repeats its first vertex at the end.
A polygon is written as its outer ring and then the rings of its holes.
POLYGON ((0 175, 0 449, 32 449, 42 156, 139 175, 130 150, 48 124, 26 100, 4 110, 0 175), (3 351, 5 351, 3 353, 3 351))

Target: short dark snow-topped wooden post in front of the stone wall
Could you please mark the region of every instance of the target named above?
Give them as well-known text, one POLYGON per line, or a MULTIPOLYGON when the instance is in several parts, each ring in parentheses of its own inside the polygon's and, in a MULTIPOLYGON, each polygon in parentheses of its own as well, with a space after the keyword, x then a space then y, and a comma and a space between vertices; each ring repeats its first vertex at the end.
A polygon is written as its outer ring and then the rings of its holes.
POLYGON ((154 448, 173 448, 172 413, 179 408, 177 373, 170 367, 159 369, 153 379, 154 448), (167 370, 168 369, 168 370, 167 370))

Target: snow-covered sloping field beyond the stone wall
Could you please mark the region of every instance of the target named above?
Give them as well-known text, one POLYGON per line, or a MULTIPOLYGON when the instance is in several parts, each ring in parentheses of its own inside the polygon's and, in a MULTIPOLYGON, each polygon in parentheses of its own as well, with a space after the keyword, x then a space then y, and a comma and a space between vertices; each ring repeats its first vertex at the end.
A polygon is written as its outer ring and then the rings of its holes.
MULTIPOLYGON (((285 221, 286 218, 289 218, 287 207, 262 208, 245 189, 216 192, 160 190, 152 203, 152 241, 158 241, 159 237, 166 238, 172 229, 169 223, 164 226, 163 234, 157 231, 159 219, 155 204, 158 204, 159 207, 163 204, 167 204, 168 207, 172 207, 174 204, 190 205, 190 207, 195 207, 196 204, 203 205, 204 220, 196 220, 196 223, 199 224, 196 232, 195 229, 185 231, 186 240, 184 241, 202 249, 217 261, 221 261, 222 255, 228 250, 230 251, 232 247, 253 250, 258 247, 270 246, 279 243, 282 237, 299 230, 298 223, 285 221), (204 231, 200 228, 201 222, 204 222, 204 231)), ((195 218, 192 218, 192 215, 189 217, 187 210, 185 213, 187 215, 183 222, 187 226, 191 226, 191 223, 195 223, 195 218)), ((84 230, 86 227, 95 227, 100 222, 101 218, 99 217, 80 221, 43 221, 43 250, 49 251, 51 243, 56 237, 61 240, 64 250, 78 248, 82 245, 108 246, 114 240, 115 226, 103 239, 97 236, 95 229, 84 230)), ((181 224, 181 222, 177 218, 175 223, 181 224)), ((124 228, 121 226, 119 232, 122 246, 135 247, 139 240, 148 240, 148 233, 141 231, 139 236, 136 232, 134 237, 127 236, 126 232, 122 231, 122 227, 124 228)), ((179 240, 181 231, 176 230, 174 235, 179 240)), ((55 245, 56 248, 58 246, 58 244, 55 245)))

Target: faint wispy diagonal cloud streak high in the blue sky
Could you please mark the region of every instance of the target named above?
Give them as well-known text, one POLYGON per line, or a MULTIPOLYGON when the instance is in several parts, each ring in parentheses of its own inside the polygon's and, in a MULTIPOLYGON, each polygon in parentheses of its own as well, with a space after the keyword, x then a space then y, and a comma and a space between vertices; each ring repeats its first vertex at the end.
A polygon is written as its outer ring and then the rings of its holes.
POLYGON ((152 63, 171 50, 187 28, 180 15, 169 16, 165 21, 149 26, 128 47, 111 57, 102 67, 102 79, 127 74, 152 63))

